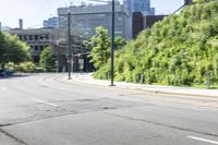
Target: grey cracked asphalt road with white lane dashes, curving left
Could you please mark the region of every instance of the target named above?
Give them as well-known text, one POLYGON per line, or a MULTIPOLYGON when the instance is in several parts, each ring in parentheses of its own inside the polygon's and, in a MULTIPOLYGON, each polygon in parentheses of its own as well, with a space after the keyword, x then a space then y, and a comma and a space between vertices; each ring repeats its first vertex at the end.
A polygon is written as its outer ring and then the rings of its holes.
POLYGON ((0 78, 0 145, 218 145, 218 98, 0 78))

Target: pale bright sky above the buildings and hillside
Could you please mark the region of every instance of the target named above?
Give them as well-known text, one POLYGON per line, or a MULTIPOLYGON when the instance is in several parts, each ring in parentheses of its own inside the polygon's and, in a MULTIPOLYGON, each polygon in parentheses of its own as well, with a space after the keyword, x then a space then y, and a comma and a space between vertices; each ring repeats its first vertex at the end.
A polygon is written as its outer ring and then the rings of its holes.
MULTIPOLYGON (((24 28, 40 27, 44 20, 57 16, 57 8, 81 2, 89 3, 88 0, 0 0, 0 22, 2 26, 19 27, 19 19, 23 19, 24 28)), ((156 14, 168 14, 182 5, 183 0, 150 0, 150 3, 156 14)))

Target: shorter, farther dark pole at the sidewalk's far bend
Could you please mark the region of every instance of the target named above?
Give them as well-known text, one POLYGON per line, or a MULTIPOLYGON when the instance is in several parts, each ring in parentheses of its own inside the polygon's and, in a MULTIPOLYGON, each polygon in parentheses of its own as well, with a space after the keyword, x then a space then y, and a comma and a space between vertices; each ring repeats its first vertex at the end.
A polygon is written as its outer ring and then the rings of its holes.
POLYGON ((71 8, 69 8, 68 12, 68 71, 69 71, 69 80, 71 80, 71 8))

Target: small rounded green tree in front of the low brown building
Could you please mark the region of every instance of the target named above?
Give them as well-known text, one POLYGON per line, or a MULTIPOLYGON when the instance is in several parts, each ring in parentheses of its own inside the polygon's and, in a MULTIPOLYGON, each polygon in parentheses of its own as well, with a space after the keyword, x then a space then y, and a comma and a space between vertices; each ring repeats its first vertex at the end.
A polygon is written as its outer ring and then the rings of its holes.
POLYGON ((56 61, 53 59, 50 47, 45 48, 44 51, 40 53, 39 64, 47 71, 51 71, 52 69, 56 68, 56 61))

